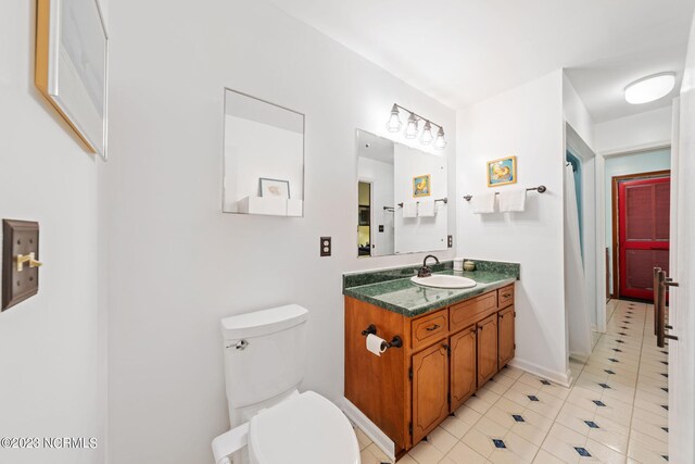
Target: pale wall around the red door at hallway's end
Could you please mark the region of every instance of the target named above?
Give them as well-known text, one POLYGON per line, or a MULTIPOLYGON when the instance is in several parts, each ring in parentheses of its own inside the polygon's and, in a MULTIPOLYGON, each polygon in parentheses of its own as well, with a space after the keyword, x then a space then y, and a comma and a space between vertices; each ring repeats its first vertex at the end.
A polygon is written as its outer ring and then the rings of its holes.
MULTIPOLYGON (((612 177, 628 174, 649 173, 654 171, 666 171, 671 168, 671 150, 661 150, 631 153, 617 156, 605 158, 605 240, 606 248, 612 260, 612 177)), ((609 289, 612 291, 612 265, 609 268, 609 289)))

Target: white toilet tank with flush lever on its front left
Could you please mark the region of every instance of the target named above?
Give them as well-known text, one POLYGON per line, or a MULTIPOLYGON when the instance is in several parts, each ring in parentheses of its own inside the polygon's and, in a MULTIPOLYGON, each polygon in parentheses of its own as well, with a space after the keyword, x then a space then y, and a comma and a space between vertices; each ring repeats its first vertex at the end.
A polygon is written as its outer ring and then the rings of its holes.
POLYGON ((307 319, 308 311, 296 304, 222 319, 232 423, 239 421, 239 411, 253 410, 254 404, 267 407, 268 400, 300 385, 306 367, 307 319))

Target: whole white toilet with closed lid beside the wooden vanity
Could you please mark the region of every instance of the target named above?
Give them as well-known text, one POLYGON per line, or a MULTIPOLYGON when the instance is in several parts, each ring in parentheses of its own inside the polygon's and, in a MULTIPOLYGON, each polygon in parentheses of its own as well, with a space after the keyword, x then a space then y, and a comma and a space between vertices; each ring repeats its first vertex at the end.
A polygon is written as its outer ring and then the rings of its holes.
POLYGON ((359 464, 348 417, 300 393, 308 311, 296 304, 222 319, 231 430, 213 440, 216 464, 359 464))

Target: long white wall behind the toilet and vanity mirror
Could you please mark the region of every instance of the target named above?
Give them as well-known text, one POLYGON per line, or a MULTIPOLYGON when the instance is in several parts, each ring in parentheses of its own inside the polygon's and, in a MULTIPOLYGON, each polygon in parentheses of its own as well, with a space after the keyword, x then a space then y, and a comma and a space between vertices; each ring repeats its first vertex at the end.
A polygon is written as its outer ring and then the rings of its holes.
POLYGON ((425 255, 357 259, 355 128, 388 137, 394 101, 444 125, 453 186, 455 112, 265 2, 122 0, 110 26, 110 464, 207 463, 229 426, 219 319, 305 305, 303 387, 339 401, 341 274, 425 255), (225 86, 306 114, 303 218, 220 213, 225 86))

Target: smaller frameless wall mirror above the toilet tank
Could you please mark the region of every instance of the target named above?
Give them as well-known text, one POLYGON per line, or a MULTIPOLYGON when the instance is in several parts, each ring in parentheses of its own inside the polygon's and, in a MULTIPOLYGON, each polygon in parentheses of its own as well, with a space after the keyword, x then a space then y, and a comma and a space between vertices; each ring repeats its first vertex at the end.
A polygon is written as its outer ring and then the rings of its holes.
POLYGON ((223 212, 302 216, 304 115, 225 89, 223 212))

